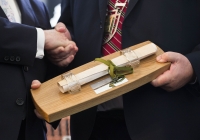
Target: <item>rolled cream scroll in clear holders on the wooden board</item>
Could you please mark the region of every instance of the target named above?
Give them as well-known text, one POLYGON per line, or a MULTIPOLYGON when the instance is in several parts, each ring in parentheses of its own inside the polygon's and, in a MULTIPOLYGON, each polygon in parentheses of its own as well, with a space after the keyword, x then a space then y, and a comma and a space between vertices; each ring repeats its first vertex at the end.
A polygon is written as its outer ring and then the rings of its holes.
MULTIPOLYGON (((155 54, 156 51, 157 46, 154 43, 149 43, 135 50, 131 50, 130 48, 122 50, 122 55, 111 59, 110 61, 117 67, 131 66, 134 68, 139 65, 141 59, 155 54)), ((59 81, 57 85, 62 93, 75 93, 81 90, 81 85, 89 83, 109 73, 109 66, 102 63, 76 75, 71 72, 62 74, 62 80, 59 81)))

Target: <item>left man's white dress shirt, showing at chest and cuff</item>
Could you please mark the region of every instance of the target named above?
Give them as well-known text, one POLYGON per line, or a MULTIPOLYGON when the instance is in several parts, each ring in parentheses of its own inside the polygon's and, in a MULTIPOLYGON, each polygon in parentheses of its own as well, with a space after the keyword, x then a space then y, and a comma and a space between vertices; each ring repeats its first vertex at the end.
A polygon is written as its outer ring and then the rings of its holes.
MULTIPOLYGON (((6 0, 14 14, 15 21, 21 23, 21 12, 18 7, 16 0, 6 0)), ((1 6, 1 4, 0 4, 1 6)), ((36 58, 42 59, 44 57, 44 41, 45 35, 41 28, 36 28, 37 30, 37 53, 36 58)))

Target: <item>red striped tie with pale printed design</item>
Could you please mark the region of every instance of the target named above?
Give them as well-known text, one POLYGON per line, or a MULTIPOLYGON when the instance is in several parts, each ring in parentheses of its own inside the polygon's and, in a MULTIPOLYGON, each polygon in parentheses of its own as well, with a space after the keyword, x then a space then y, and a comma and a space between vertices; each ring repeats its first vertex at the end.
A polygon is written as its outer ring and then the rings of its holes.
POLYGON ((127 0, 110 0, 105 22, 103 55, 121 50, 122 24, 127 9, 127 0))

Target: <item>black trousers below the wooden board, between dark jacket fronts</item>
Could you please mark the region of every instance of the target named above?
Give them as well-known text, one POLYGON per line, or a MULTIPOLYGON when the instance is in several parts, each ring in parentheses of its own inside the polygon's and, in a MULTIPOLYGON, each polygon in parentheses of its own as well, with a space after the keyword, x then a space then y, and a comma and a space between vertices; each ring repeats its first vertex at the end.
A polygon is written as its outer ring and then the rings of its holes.
POLYGON ((123 110, 98 112, 89 140, 131 140, 123 110))

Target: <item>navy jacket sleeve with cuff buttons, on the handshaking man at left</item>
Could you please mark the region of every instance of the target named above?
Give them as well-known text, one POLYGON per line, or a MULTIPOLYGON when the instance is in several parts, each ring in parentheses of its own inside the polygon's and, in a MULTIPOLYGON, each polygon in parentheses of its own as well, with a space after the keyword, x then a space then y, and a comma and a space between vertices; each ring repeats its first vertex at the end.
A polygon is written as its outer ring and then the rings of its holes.
POLYGON ((35 27, 0 17, 0 63, 32 66, 37 51, 35 27))

